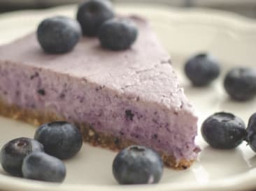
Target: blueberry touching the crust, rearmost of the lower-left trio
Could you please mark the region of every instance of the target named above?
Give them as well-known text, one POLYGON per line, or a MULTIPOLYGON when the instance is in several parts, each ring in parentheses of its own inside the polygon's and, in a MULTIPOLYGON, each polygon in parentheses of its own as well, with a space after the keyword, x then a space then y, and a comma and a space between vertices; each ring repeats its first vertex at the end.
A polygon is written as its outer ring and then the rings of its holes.
POLYGON ((76 155, 83 144, 82 135, 72 123, 55 121, 41 125, 34 135, 34 139, 41 142, 45 153, 60 159, 67 159, 76 155))

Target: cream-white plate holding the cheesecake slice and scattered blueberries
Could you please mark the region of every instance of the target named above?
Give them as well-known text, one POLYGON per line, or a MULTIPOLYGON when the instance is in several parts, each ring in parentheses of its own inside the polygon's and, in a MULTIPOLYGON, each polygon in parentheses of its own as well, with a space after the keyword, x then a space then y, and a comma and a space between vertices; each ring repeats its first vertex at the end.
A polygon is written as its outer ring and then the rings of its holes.
MULTIPOLYGON (((234 66, 255 66, 256 22, 232 13, 215 10, 172 10, 145 5, 118 5, 119 13, 135 13, 148 17, 159 39, 169 50, 173 65, 178 72, 187 97, 191 100, 201 121, 213 112, 232 112, 247 123, 256 112, 256 100, 234 102, 229 100, 222 88, 222 77, 234 66), (183 63, 190 55, 208 51, 220 59, 222 77, 208 88, 190 86, 183 75, 183 63)), ((43 11, 10 13, 0 17, 0 43, 8 43, 23 34, 33 31, 39 21, 50 15, 76 13, 76 6, 65 6, 43 11)), ((0 118, 0 146, 15 137, 33 137, 31 125, 0 118)), ((75 158, 65 161, 67 176, 62 184, 50 184, 13 178, 0 169, 0 189, 27 190, 244 190, 256 188, 255 153, 242 144, 232 151, 219 151, 206 146, 197 137, 203 148, 198 161, 190 169, 175 171, 164 169, 162 181, 157 185, 121 186, 115 182, 111 165, 116 153, 84 144, 75 158)))

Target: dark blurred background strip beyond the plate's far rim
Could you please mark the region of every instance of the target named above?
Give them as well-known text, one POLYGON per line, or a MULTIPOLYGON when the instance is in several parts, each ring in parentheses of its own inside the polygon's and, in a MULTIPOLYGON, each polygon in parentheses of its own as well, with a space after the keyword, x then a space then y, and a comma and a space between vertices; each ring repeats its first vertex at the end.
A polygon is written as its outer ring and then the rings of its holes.
MULTIPOLYGON (((49 8, 83 0, 0 0, 0 13, 12 10, 49 8)), ((202 7, 229 10, 240 15, 256 18, 256 0, 112 0, 122 3, 163 3, 184 8, 202 7)))

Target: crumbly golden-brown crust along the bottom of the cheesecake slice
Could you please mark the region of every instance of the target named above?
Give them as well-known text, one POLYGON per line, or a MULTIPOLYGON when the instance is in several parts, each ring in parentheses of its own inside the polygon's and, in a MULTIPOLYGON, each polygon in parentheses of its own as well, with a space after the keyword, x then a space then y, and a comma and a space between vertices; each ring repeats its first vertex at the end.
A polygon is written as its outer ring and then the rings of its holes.
MULTIPOLYGON (((36 126, 50 121, 65 121, 64 117, 57 116, 51 112, 42 112, 36 109, 21 109, 15 105, 8 105, 6 102, 1 100, 0 115, 31 123, 36 126)), ((122 148, 136 144, 129 140, 123 140, 112 135, 106 135, 102 132, 96 132, 94 128, 85 123, 76 123, 76 125, 80 128, 80 132, 82 132, 83 140, 93 146, 101 146, 104 148, 110 148, 113 151, 120 151, 122 148)), ((176 162, 176 158, 173 155, 166 155, 164 153, 160 154, 162 155, 164 165, 173 169, 187 169, 194 162, 194 160, 181 160, 176 162)))

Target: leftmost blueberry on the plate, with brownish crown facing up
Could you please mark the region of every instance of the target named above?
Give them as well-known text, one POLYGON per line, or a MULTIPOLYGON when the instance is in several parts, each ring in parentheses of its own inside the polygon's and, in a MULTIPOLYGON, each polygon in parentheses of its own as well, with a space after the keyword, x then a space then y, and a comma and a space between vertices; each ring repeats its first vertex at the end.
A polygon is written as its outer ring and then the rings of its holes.
POLYGON ((43 151, 43 145, 36 140, 25 137, 13 139, 1 148, 1 165, 9 174, 22 176, 23 159, 36 151, 43 151))

